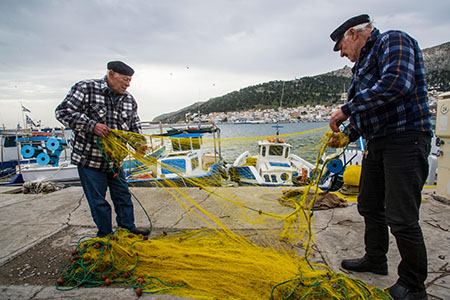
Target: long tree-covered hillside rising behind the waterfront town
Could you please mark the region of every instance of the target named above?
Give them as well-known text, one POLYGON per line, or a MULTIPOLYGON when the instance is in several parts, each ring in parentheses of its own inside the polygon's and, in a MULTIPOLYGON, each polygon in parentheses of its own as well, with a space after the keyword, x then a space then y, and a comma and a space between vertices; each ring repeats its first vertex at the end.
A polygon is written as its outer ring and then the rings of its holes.
MULTIPOLYGON (((423 50, 429 89, 450 90, 450 42, 423 50)), ((243 111, 297 107, 300 105, 330 105, 340 101, 341 94, 350 85, 351 68, 331 71, 317 76, 306 76, 289 81, 270 81, 242 88, 206 102, 196 102, 176 112, 157 116, 153 121, 175 123, 183 121, 187 113, 243 111), (284 88, 283 88, 284 86, 284 88)))

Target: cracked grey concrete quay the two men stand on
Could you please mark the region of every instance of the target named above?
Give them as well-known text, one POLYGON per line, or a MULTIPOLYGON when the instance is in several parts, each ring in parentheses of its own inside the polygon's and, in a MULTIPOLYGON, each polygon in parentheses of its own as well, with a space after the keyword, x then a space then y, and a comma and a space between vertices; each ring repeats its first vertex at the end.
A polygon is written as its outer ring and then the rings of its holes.
MULTIPOLYGON (((15 189, 0 187, 0 299, 138 298, 133 289, 114 285, 57 291, 55 283, 59 269, 69 258, 79 238, 96 233, 87 201, 81 187, 64 188, 45 195, 14 193, 15 189)), ((154 234, 167 229, 207 227, 200 218, 189 215, 187 209, 174 199, 179 193, 189 195, 216 215, 220 215, 223 209, 221 201, 225 201, 216 195, 244 199, 245 205, 271 213, 283 214, 292 210, 276 201, 286 190, 281 188, 220 187, 214 188, 213 194, 197 188, 183 188, 180 191, 162 188, 131 190, 148 211, 154 234)), ((433 188, 424 189, 420 212, 428 248, 427 292, 429 299, 450 299, 450 205, 435 200, 433 192, 433 188)), ((315 257, 320 257, 335 272, 359 278, 371 286, 389 287, 397 280, 399 263, 393 237, 388 254, 388 276, 352 273, 340 268, 342 259, 358 258, 364 253, 364 222, 357 212, 356 203, 348 204, 346 208, 314 213, 315 257)), ((148 219, 137 203, 135 216, 138 227, 148 227, 148 219)), ((227 217, 233 218, 232 215, 227 217)), ((236 223, 236 226, 232 229, 252 230, 244 222, 236 223)), ((187 298, 144 294, 140 299, 187 298)))

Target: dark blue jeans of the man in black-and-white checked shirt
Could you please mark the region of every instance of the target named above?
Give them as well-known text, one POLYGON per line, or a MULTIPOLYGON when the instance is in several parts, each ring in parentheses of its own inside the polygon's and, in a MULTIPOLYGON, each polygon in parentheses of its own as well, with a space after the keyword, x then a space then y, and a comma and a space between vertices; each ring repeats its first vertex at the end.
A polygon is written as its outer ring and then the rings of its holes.
POLYGON ((92 218, 97 225, 97 236, 103 237, 112 232, 111 206, 105 199, 108 187, 117 225, 129 230, 136 228, 133 202, 122 170, 119 171, 118 178, 114 178, 112 172, 104 173, 81 167, 78 167, 78 174, 92 218))

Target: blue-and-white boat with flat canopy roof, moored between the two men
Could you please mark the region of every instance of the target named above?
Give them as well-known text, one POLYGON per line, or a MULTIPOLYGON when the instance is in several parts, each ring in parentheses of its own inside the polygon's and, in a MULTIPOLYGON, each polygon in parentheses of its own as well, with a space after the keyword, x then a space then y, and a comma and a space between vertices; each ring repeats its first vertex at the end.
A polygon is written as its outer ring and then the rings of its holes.
POLYGON ((140 187, 220 186, 223 161, 216 134, 220 135, 220 129, 212 126, 194 133, 172 130, 155 136, 168 139, 169 150, 153 162, 135 168, 127 176, 128 183, 140 187), (213 134, 213 149, 205 148, 204 133, 213 134))

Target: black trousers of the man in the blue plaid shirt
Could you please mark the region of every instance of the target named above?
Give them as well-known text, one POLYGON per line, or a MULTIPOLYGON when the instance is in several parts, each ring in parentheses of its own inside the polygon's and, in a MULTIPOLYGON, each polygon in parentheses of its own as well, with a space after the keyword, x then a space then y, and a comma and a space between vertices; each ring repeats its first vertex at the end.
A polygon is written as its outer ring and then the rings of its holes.
POLYGON ((398 282, 412 290, 424 289, 427 277, 419 208, 430 148, 429 134, 408 131, 370 140, 362 163, 358 211, 366 225, 366 255, 386 262, 389 226, 401 256, 398 282))

